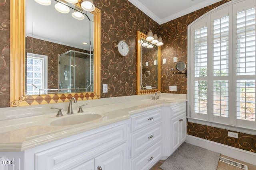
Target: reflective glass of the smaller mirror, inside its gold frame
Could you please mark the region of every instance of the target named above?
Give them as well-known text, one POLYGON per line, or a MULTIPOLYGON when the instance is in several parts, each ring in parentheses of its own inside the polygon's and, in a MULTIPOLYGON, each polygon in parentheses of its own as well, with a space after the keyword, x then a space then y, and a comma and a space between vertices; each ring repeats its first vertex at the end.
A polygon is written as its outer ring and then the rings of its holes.
POLYGON ((158 89, 158 47, 144 39, 141 48, 141 90, 158 89))

